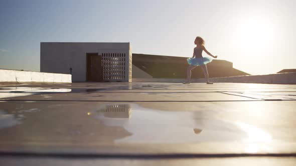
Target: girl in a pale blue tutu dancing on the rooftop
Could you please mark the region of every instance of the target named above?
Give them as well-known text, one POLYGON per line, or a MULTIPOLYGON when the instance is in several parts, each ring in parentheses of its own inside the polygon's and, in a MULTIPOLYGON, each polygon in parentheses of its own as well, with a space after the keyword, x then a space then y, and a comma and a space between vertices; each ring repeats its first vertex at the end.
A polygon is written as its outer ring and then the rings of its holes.
POLYGON ((207 69, 207 63, 212 61, 212 58, 209 57, 203 57, 202 52, 203 50, 209 54, 210 56, 217 58, 217 56, 212 55, 204 46, 205 40, 200 37, 197 36, 194 40, 194 43, 196 44, 196 47, 193 50, 193 56, 192 58, 187 58, 187 62, 189 64, 188 68, 187 68, 187 80, 185 83, 190 83, 190 78, 191 78, 191 70, 193 68, 195 68, 196 66, 201 66, 204 74, 205 74, 205 79, 207 81, 207 84, 213 84, 213 82, 209 81, 209 73, 208 73, 208 69, 207 69))

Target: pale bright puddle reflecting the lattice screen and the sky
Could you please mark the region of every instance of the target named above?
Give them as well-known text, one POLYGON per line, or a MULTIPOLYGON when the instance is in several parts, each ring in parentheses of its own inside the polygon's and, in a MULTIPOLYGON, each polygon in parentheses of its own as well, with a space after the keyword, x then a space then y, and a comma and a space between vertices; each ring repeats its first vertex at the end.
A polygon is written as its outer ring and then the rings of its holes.
POLYGON ((161 111, 137 104, 103 105, 87 112, 107 126, 120 126, 132 133, 118 143, 194 143, 201 141, 249 142, 271 139, 266 132, 244 123, 209 119, 202 111, 161 111), (263 137, 262 137, 263 136, 263 137))

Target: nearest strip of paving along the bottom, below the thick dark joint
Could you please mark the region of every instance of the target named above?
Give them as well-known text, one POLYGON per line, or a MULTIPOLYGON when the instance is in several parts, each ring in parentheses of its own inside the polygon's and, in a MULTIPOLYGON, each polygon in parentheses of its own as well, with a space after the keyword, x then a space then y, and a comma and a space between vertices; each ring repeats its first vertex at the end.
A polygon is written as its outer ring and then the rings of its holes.
POLYGON ((277 166, 295 165, 295 157, 222 157, 222 158, 54 158, 54 157, 0 157, 0 162, 7 166, 17 165, 228 165, 228 166, 277 166))

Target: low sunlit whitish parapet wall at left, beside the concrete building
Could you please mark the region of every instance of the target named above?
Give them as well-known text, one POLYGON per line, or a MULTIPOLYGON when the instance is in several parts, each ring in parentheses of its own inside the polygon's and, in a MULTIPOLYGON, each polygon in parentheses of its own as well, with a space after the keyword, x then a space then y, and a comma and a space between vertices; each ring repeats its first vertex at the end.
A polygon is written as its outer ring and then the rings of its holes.
POLYGON ((0 69, 0 82, 72 82, 71 74, 0 69))

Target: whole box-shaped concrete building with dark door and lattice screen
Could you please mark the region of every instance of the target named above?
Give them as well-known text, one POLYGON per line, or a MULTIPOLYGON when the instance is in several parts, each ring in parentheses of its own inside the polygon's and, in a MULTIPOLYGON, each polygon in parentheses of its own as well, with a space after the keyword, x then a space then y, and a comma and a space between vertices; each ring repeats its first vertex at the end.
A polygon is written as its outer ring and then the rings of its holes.
POLYGON ((129 42, 41 42, 40 72, 72 74, 73 82, 131 81, 129 42))

